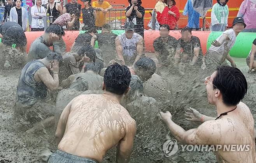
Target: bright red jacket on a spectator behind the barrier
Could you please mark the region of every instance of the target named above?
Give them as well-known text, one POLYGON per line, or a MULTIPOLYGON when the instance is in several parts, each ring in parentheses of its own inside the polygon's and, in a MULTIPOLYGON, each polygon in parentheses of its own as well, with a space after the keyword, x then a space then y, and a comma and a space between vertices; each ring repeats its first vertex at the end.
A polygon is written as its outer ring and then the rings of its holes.
POLYGON ((163 12, 157 12, 157 21, 163 25, 163 24, 167 24, 169 25, 170 29, 173 30, 176 25, 177 25, 177 21, 179 20, 179 18, 181 17, 181 14, 179 12, 178 7, 176 7, 175 5, 173 5, 171 8, 169 8, 168 6, 165 7, 165 9, 163 9, 163 12), (176 17, 174 17, 171 14, 168 14, 168 11, 172 11, 176 14, 176 17))

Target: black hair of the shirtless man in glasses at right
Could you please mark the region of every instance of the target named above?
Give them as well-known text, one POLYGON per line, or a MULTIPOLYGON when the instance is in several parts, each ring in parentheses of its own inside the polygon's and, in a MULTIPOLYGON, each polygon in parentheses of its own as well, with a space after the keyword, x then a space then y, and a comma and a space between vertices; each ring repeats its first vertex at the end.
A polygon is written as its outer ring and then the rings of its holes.
POLYGON ((247 81, 238 68, 218 67, 212 84, 214 89, 219 89, 223 103, 227 106, 237 105, 247 93, 247 81))

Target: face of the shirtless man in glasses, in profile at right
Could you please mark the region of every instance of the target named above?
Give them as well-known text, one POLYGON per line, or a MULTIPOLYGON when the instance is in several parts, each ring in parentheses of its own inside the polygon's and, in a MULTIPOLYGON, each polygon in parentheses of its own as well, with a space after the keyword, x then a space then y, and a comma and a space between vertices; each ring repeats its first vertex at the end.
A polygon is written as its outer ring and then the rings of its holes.
POLYGON ((217 71, 212 73, 209 77, 205 79, 206 91, 207 91, 207 99, 210 104, 216 103, 216 93, 219 91, 218 89, 214 89, 212 81, 217 75, 217 71))

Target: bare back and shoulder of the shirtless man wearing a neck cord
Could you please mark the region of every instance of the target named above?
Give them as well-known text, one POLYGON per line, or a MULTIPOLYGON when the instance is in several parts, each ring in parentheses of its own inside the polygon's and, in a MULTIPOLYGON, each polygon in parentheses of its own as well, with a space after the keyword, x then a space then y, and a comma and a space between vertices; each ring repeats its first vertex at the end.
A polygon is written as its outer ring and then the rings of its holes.
POLYGON ((223 151, 223 148, 219 149, 216 152, 219 163, 256 162, 254 120, 247 105, 240 102, 233 112, 216 121, 205 123, 208 123, 209 128, 216 126, 211 129, 212 135, 216 138, 216 144, 220 144, 222 147, 224 145, 249 145, 249 151, 238 151, 236 148, 235 151, 230 152, 223 151))

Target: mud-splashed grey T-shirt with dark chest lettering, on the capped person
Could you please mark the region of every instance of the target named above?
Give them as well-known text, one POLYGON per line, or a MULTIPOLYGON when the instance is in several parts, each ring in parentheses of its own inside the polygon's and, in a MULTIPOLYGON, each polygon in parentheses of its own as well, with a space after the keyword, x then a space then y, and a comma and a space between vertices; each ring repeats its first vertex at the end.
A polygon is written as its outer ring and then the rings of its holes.
POLYGON ((140 39, 143 39, 138 33, 133 33, 132 39, 127 39, 125 33, 117 36, 123 47, 123 57, 126 65, 132 65, 137 55, 137 44, 140 39))

